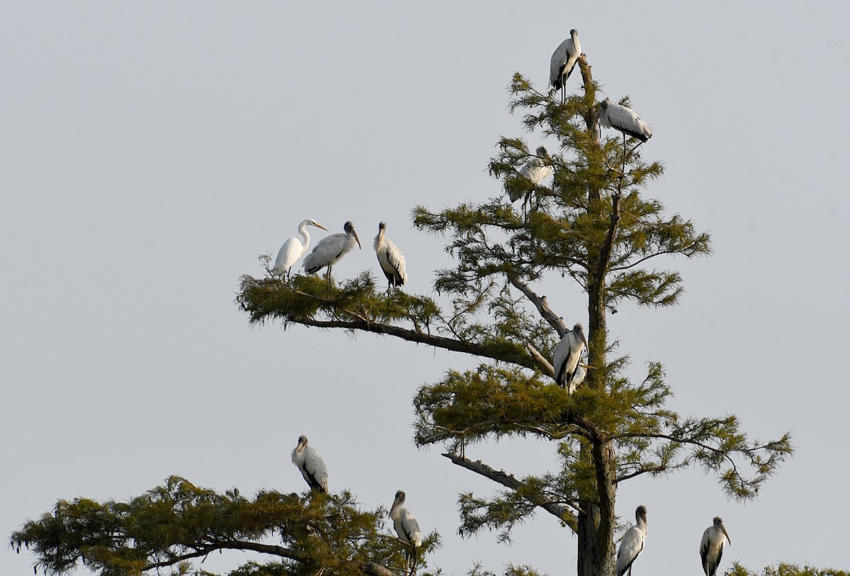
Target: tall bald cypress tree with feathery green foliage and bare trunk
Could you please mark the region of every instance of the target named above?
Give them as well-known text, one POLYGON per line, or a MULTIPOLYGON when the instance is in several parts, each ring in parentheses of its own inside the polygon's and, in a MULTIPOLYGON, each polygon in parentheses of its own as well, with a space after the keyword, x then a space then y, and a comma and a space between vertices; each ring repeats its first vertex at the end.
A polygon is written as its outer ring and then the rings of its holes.
MULTIPOLYGON (((541 160, 553 167, 551 186, 532 184, 519 174, 518 167, 534 158, 522 138, 502 138, 489 165, 494 177, 492 197, 440 212, 424 206, 413 211, 417 229, 443 234, 449 241, 452 259, 447 268, 435 273, 436 296, 387 294, 365 273, 339 285, 314 276, 285 280, 269 273, 243 277, 237 302, 252 323, 280 320, 287 328, 362 330, 480 359, 476 370, 447 370, 439 381, 420 387, 413 398, 416 444, 443 446, 451 464, 499 485, 489 497, 460 494, 461 534, 495 529, 501 539, 508 539, 518 522, 538 509, 547 511, 577 534, 579 576, 610 576, 615 565, 615 502, 620 483, 702 466, 717 474, 728 496, 749 500, 792 448, 787 434, 765 443, 751 441, 734 415, 678 415, 667 406, 671 388, 661 364, 648 364, 638 381, 625 376, 626 357, 615 356, 607 314, 630 303, 676 304, 682 278, 675 270, 661 267, 665 257, 706 256, 711 241, 688 219, 666 215, 660 201, 645 194, 663 172, 660 163, 643 161, 641 149, 631 138, 624 141, 619 133, 600 138, 598 84, 583 56, 579 66, 581 88, 564 104, 557 94, 541 92, 519 74, 511 83, 512 112, 523 115, 524 127, 536 138, 558 144, 551 157, 541 160), (529 197, 527 212, 507 203, 506 194, 529 197), (556 384, 550 359, 560 338, 582 319, 565 323, 562 314, 538 293, 536 286, 543 281, 577 285, 586 297, 582 307, 587 306, 590 368, 571 394, 556 384), (467 457, 467 451, 484 438, 515 437, 553 443, 558 459, 551 470, 516 477, 467 457)), ((329 544, 326 550, 337 563, 331 566, 321 564, 319 557, 297 556, 305 549, 306 539, 319 537, 297 519, 310 506, 303 498, 292 503, 295 507, 286 521, 275 517, 252 525, 252 532, 226 533, 223 538, 237 548, 239 542, 250 543, 258 535, 280 533, 290 538, 289 547, 277 550, 286 559, 283 568, 268 573, 310 573, 317 566, 327 574, 381 573, 399 561, 400 556, 393 556, 399 550, 382 547, 371 532, 374 518, 348 508, 341 515, 328 507, 336 499, 322 500, 326 504, 321 510, 343 517, 351 529, 360 530, 357 534, 363 536, 356 541, 369 554, 354 553, 344 545, 345 534, 329 532, 328 539, 339 544, 329 544), (385 562, 366 563, 373 557, 385 562)), ((348 505, 348 500, 343 502, 348 505)), ((253 501, 247 504, 254 505, 253 501)), ((278 505, 276 500, 273 504, 278 505)), ((138 518, 147 509, 140 510, 129 518, 138 518)), ((106 567, 103 573, 134 573, 107 568, 120 567, 116 562, 122 554, 132 556, 134 567, 150 569, 173 566, 186 557, 197 557, 192 550, 210 548, 198 547, 195 532, 187 528, 162 535, 159 547, 152 546, 151 553, 139 552, 139 557, 127 552, 129 540, 104 538, 99 556, 93 556, 81 544, 84 539, 77 538, 84 528, 59 522, 57 515, 59 506, 54 514, 27 524, 11 539, 13 546, 35 546, 40 565, 49 571, 60 571, 69 559, 82 558, 106 567), (183 556, 175 545, 184 546, 183 556)), ((196 516, 192 518, 196 522, 196 516)), ((216 516, 209 518, 215 522, 216 516)), ((110 526, 106 522, 101 532, 110 526)), ((203 522, 192 526, 203 532, 203 522)), ((235 529, 224 522, 225 528, 235 529)), ((101 534, 97 529, 95 533, 101 534)), ((426 550, 435 542, 433 534, 426 550)), ((246 568, 235 573, 263 572, 246 568)))

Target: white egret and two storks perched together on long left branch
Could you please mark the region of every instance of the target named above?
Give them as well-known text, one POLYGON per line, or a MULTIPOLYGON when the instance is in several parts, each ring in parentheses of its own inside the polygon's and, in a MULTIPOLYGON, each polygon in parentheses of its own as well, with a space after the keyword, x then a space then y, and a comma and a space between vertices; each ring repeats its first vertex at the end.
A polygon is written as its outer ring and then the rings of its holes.
MULTIPOLYGON (((277 274, 283 274, 284 278, 288 279, 292 274, 292 266, 297 263, 298 258, 302 257, 310 246, 310 234, 307 231, 308 226, 315 226, 326 230, 324 226, 316 222, 313 218, 307 218, 298 225, 298 233, 301 234, 302 240, 290 238, 280 246, 275 259, 275 266, 272 268, 277 274)), ((331 234, 319 240, 319 243, 313 248, 307 257, 304 258, 303 268, 307 274, 314 274, 321 268, 327 268, 326 278, 331 281, 331 268, 333 265, 343 259, 343 256, 354 250, 354 246, 361 248, 360 238, 357 237, 357 231, 354 230, 354 223, 346 222, 343 226, 344 232, 341 234, 331 234)), ((375 252, 377 261, 381 265, 383 274, 387 277, 389 283, 388 291, 393 291, 399 286, 407 282, 407 268, 405 265, 405 257, 401 251, 393 244, 392 240, 386 237, 387 224, 380 223, 377 227, 377 236, 375 237, 375 252)))

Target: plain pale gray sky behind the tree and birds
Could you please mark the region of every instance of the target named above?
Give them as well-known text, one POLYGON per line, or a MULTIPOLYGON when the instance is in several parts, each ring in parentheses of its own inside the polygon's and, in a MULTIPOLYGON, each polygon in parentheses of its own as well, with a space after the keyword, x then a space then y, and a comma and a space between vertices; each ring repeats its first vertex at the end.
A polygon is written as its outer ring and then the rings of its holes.
MULTIPOLYGON (((372 508, 405 489, 422 528, 442 534, 431 567, 575 574, 575 538, 545 513, 510 547, 459 539, 456 494, 496 486, 412 444, 417 387, 474 359, 252 329, 234 304, 240 275, 261 274, 257 255, 305 217, 357 226, 363 250, 334 268, 341 278, 379 274, 371 239, 386 221, 409 289, 429 293, 431 270, 451 263, 411 208, 499 195, 485 168, 501 135, 553 150, 507 114, 506 87, 520 71, 543 88, 575 27, 606 93, 631 95, 653 128, 643 156, 667 172, 649 195, 714 240, 711 258, 664 263, 684 275, 681 306, 610 318, 630 373, 660 360, 672 408, 738 414, 756 438, 790 430, 797 449, 747 505, 696 470, 621 486, 622 517, 649 508, 636 574, 700 573, 717 514, 734 543, 723 570, 846 569, 850 4, 585 6, 0 4, 3 540, 59 498, 126 499, 171 474, 303 490, 289 452, 305 433, 332 490, 372 508)), ((573 287, 539 289, 583 318, 573 287)), ((521 476, 549 470, 555 449, 467 455, 521 476)), ((31 573, 32 560, 6 549, 0 573, 31 573)))

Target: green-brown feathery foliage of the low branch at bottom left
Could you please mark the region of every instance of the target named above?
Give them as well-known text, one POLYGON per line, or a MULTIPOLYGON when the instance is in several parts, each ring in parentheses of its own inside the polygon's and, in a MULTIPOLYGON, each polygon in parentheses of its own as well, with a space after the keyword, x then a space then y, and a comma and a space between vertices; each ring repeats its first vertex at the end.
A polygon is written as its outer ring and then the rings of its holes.
MULTIPOLYGON (((275 559, 247 562, 230 576, 317 571, 375 576, 383 567, 405 565, 406 545, 382 530, 384 515, 381 509, 361 511, 348 492, 305 496, 263 490, 249 500, 236 489, 218 494, 170 477, 127 502, 59 500, 52 512, 15 531, 9 545, 19 552, 21 546, 31 548, 35 568, 55 574, 79 564, 103 576, 160 568, 200 573, 190 560, 239 550, 275 559)), ((422 551, 437 545, 437 535, 430 534, 422 551)))

